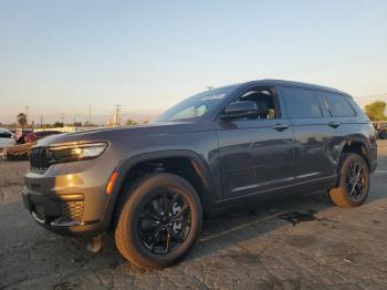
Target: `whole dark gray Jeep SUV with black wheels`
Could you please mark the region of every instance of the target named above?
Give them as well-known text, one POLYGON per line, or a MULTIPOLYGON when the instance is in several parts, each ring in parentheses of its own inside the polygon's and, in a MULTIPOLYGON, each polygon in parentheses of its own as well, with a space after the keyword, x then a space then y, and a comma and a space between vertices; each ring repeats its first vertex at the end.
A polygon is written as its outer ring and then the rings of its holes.
POLYGON ((22 196, 39 225, 94 249, 112 230, 126 259, 159 269, 187 253, 203 213, 311 190, 362 205, 377 147, 351 95, 263 80, 196 94, 153 124, 43 138, 30 163, 22 196))

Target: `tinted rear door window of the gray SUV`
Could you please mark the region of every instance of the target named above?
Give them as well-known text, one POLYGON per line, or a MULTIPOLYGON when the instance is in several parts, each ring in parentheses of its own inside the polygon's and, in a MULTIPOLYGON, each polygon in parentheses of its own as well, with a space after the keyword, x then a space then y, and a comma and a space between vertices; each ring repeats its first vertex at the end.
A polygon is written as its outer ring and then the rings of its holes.
POLYGON ((296 87, 282 87, 281 92, 290 118, 323 116, 313 91, 296 87))

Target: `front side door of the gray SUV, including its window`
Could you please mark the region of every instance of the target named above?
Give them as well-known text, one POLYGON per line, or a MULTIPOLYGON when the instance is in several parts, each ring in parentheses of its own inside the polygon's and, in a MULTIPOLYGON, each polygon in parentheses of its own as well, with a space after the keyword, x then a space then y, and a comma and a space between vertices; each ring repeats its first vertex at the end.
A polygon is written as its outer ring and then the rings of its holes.
POLYGON ((260 113, 217 123, 224 198, 286 188, 294 179, 293 133, 281 113, 275 89, 251 87, 239 101, 257 102, 260 113))

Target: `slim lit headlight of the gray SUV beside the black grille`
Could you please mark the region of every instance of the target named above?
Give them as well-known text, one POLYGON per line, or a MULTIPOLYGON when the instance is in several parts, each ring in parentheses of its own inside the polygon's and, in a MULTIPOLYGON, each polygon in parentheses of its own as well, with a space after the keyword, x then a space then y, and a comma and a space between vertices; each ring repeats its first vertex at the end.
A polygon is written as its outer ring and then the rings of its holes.
POLYGON ((75 162, 98 157, 107 147, 106 143, 53 145, 49 154, 53 162, 75 162))

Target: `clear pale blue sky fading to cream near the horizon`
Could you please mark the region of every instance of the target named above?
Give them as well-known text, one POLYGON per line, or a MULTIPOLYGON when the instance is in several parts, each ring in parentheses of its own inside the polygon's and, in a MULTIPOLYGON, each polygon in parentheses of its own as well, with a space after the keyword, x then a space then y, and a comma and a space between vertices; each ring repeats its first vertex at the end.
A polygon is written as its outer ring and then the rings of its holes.
MULTIPOLYGON (((387 101, 387 1, 0 0, 0 122, 147 117, 260 79, 387 101)), ((44 122, 43 121, 43 122, 44 122)))

